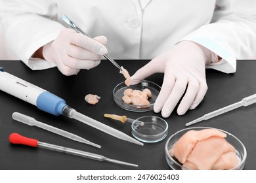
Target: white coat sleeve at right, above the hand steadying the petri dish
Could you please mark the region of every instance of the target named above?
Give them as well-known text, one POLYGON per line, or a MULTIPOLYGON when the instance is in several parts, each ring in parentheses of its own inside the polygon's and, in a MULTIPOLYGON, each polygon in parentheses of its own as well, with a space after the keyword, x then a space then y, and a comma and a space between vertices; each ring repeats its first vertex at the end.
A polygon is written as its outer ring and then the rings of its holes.
POLYGON ((224 73, 236 71, 236 59, 256 56, 256 1, 217 0, 211 24, 182 40, 202 44, 222 59, 207 65, 224 73))

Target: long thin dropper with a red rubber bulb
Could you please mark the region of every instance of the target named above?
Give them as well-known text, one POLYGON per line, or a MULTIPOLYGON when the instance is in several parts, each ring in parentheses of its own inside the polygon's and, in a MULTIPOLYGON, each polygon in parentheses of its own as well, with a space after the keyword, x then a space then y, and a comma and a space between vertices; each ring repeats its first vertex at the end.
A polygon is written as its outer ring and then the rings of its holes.
POLYGON ((73 154, 75 156, 81 156, 83 158, 89 158, 89 159, 95 159, 98 161, 108 161, 111 163, 117 163, 120 165, 127 165, 127 166, 131 166, 131 167, 138 167, 138 165, 133 164, 133 163, 127 163, 124 161, 119 161, 116 159, 110 159, 110 158, 106 158, 104 156, 101 156, 99 154, 93 154, 91 152, 85 152, 85 151, 81 151, 81 150, 76 150, 73 148, 66 148, 63 146, 56 146, 54 144, 48 144, 45 142, 40 142, 37 139, 30 139, 28 137, 24 137, 18 133, 12 133, 9 137, 9 141, 12 144, 24 144, 27 146, 33 146, 33 147, 41 147, 41 148, 47 148, 49 150, 56 150, 58 152, 64 152, 67 154, 73 154))

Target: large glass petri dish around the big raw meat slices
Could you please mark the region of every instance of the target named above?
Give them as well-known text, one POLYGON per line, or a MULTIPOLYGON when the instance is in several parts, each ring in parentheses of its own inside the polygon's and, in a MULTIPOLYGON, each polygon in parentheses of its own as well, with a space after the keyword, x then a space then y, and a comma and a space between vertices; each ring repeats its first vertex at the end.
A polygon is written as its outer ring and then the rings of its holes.
MULTIPOLYGON (((167 139, 167 142, 165 144, 165 159, 166 159, 167 164, 169 165, 169 167, 171 167, 171 169, 173 169, 173 170, 186 170, 186 168, 183 167, 182 164, 175 157, 172 157, 169 154, 169 150, 173 147, 175 142, 177 142, 179 140, 179 138, 181 138, 182 135, 184 135, 184 133, 186 133, 190 130, 202 130, 202 129, 209 129, 209 128, 211 128, 211 127, 189 127, 189 128, 177 131, 176 133, 171 135, 171 137, 169 137, 169 139, 167 139)), ((236 156, 239 160, 238 161, 239 163, 233 169, 234 170, 244 169, 245 160, 246 160, 246 157, 247 157, 247 151, 246 151, 246 148, 245 148, 244 144, 237 137, 232 135, 231 133, 228 133, 227 131, 224 131, 222 129, 218 129, 218 130, 222 131, 223 133, 226 133, 226 138, 225 138, 226 141, 229 142, 236 149, 236 156)))

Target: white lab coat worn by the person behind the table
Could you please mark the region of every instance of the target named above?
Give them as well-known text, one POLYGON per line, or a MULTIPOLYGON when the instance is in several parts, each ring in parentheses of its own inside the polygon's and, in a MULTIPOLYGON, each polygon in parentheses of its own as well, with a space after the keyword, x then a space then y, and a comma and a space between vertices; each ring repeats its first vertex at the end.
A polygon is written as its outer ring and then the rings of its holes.
POLYGON ((31 58, 64 27, 62 14, 83 31, 108 39, 114 59, 153 59, 182 40, 221 58, 207 67, 234 73, 236 59, 256 55, 255 0, 0 0, 5 39, 32 69, 54 67, 31 58))

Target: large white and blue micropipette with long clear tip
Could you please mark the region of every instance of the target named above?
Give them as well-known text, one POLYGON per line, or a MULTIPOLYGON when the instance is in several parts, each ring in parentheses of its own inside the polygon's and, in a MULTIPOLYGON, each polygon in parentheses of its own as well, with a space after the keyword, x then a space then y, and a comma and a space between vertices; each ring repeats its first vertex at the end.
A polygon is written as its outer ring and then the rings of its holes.
POLYGON ((89 118, 79 112, 77 112, 74 108, 68 107, 66 105, 66 101, 57 97, 53 93, 47 92, 38 86, 35 86, 29 82, 26 82, 16 76, 13 76, 0 67, 0 90, 3 92, 9 93, 19 99, 22 99, 32 105, 35 105, 40 110, 48 112, 50 114, 54 114, 56 116, 64 115, 69 118, 74 118, 75 120, 79 120, 84 124, 91 125, 96 129, 104 131, 118 139, 122 139, 124 141, 133 142, 135 144, 139 144, 143 146, 143 143, 133 139, 129 135, 118 131, 108 125, 102 124, 93 118, 89 118))

